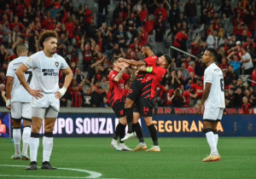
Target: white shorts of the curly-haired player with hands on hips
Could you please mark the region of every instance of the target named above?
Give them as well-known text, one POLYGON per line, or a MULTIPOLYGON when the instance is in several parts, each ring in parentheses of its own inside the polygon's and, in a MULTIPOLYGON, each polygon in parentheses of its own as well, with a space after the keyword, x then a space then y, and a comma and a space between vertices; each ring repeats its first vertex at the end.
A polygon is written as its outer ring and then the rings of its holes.
POLYGON ((55 98, 54 93, 42 93, 44 96, 42 98, 35 98, 32 97, 32 107, 34 108, 48 108, 52 107, 55 109, 55 111, 60 111, 60 100, 55 98))

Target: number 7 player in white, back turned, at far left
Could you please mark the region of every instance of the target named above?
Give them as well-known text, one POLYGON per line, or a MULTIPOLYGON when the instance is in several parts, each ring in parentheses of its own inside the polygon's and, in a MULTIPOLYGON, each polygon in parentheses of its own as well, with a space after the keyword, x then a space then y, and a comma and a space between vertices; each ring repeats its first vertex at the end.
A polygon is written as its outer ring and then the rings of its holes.
MULTIPOLYGON (((28 50, 26 44, 21 43, 16 48, 18 58, 9 62, 7 69, 7 83, 6 83, 6 107, 11 111, 11 118, 13 124, 13 137, 15 143, 15 154, 11 159, 29 160, 27 155, 27 148, 29 145, 29 137, 31 135, 31 102, 32 95, 23 88, 19 79, 15 75, 16 69, 27 60, 28 50), (20 154, 20 122, 23 118, 23 148, 20 154)), ((25 73, 26 83, 32 88, 32 71, 29 70, 25 73)))

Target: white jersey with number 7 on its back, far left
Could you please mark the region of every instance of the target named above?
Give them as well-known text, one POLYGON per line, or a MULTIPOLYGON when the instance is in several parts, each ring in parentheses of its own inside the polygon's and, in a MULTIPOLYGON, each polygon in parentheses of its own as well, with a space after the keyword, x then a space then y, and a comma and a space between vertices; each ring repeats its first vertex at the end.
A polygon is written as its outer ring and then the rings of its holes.
MULTIPOLYGON (((27 60, 27 56, 20 56, 16 58, 14 61, 9 62, 9 66, 6 72, 6 76, 14 78, 13 89, 11 91, 11 101, 12 102, 31 102, 32 95, 24 89, 22 84, 20 84, 19 78, 16 76, 15 71, 17 68, 27 60)), ((26 83, 33 88, 32 85, 32 70, 28 70, 25 72, 26 83)))

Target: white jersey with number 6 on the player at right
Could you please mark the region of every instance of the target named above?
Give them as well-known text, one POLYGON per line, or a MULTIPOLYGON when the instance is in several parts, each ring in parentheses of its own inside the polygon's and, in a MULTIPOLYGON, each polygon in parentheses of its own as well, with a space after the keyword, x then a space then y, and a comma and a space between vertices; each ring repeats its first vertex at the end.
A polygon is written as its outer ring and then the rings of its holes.
POLYGON ((221 69, 215 63, 212 63, 205 70, 204 89, 206 87, 206 83, 210 83, 212 86, 207 101, 205 101, 205 108, 224 108, 224 77, 221 69))

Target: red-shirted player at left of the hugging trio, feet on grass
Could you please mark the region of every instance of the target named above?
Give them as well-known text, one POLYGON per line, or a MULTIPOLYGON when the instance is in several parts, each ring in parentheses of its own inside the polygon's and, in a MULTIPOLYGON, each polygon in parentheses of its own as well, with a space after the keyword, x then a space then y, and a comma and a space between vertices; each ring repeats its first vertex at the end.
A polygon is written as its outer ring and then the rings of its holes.
POLYGON ((116 150, 122 151, 131 151, 131 148, 126 147, 124 141, 117 142, 117 139, 122 139, 125 137, 125 126, 126 126, 126 118, 125 118, 125 96, 124 89, 125 83, 129 80, 130 75, 125 73, 125 64, 119 63, 119 57, 114 57, 112 59, 113 70, 109 72, 109 103, 113 109, 115 115, 119 118, 119 124, 116 126, 115 133, 113 136, 113 140, 111 141, 111 146, 116 150))

